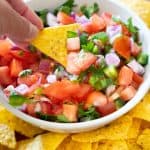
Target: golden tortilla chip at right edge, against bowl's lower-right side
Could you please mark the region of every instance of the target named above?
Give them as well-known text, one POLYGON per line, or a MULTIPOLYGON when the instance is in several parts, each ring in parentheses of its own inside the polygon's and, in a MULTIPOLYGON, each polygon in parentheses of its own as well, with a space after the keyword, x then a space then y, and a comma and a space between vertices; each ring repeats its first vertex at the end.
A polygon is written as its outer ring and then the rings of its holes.
POLYGON ((129 114, 135 118, 150 122, 150 93, 129 114))

